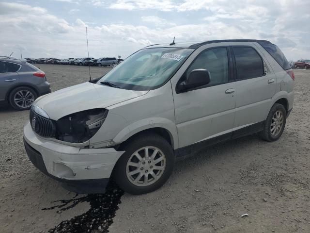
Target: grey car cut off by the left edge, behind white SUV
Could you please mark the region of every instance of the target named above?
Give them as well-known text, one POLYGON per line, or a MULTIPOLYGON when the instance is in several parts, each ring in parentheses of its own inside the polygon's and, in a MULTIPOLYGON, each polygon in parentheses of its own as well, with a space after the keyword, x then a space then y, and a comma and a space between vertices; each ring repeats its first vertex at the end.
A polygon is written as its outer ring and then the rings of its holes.
POLYGON ((26 110, 37 97, 50 92, 42 70, 25 59, 0 56, 0 101, 17 110, 26 110))

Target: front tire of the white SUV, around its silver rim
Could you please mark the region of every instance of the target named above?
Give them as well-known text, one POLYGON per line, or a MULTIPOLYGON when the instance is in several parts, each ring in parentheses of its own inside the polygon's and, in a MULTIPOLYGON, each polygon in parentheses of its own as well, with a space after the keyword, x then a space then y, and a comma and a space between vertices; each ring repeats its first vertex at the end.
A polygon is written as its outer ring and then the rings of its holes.
POLYGON ((125 152, 115 165, 113 178, 125 192, 135 195, 149 193, 161 187, 170 177, 174 166, 174 153, 171 145, 160 135, 140 134, 125 142, 121 150, 125 152), (145 151, 148 151, 148 157, 145 157, 145 151), (137 153, 140 159, 136 156, 137 153), (156 154, 152 159, 154 153, 156 154), (160 161, 156 163, 158 160, 160 161), (137 166, 128 165, 129 163, 137 166), (160 169, 156 170, 154 167, 160 169), (131 175, 130 172, 133 171, 136 173, 131 175))

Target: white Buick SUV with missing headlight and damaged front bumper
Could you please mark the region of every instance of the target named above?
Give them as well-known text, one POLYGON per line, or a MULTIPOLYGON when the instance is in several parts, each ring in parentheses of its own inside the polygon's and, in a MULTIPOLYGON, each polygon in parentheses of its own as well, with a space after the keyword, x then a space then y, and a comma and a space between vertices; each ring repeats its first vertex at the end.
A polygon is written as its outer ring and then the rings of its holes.
POLYGON ((103 192, 112 176, 151 192, 174 161, 224 140, 282 134, 294 73, 263 40, 149 46, 102 78, 38 98, 24 128, 32 163, 78 193, 103 192))

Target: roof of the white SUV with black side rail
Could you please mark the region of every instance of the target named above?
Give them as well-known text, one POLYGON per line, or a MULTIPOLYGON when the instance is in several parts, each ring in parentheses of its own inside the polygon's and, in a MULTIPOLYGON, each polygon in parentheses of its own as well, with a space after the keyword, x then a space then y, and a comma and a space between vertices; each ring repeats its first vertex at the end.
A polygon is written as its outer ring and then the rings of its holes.
POLYGON ((271 43, 268 40, 251 40, 251 39, 233 39, 233 40, 209 40, 209 41, 192 41, 192 42, 180 42, 175 43, 174 45, 170 44, 155 44, 146 46, 145 48, 191 48, 197 49, 202 45, 213 44, 213 43, 221 43, 221 42, 257 42, 257 43, 271 43))

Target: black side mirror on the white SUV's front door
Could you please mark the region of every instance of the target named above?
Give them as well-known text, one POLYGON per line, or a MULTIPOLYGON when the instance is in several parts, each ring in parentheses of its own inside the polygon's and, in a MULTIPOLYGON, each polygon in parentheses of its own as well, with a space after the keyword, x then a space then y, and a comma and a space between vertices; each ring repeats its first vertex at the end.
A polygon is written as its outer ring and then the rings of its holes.
POLYGON ((179 92, 186 91, 199 86, 204 86, 210 83, 210 73, 206 69, 192 70, 186 80, 179 84, 179 92))

